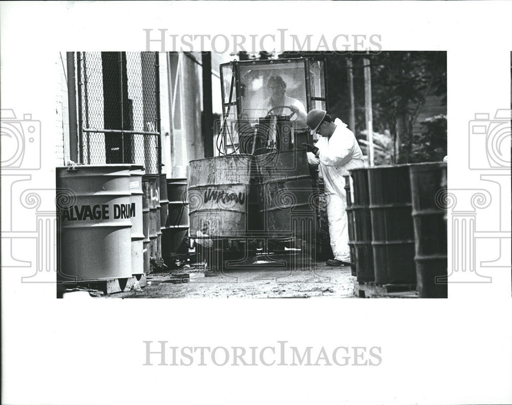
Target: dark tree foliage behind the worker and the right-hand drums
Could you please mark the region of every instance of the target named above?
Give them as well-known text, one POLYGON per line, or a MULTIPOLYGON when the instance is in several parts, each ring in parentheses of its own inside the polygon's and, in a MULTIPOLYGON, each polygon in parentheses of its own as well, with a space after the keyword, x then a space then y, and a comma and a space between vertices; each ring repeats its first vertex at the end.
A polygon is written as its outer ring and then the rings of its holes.
MULTIPOLYGON (((446 52, 382 52, 375 55, 331 55, 328 57, 329 105, 331 113, 348 120, 350 98, 347 85, 346 58, 352 57, 355 96, 356 132, 366 128, 363 61, 368 58, 372 70, 372 106, 374 131, 389 131, 398 150, 396 163, 427 161, 420 151, 423 137, 418 116, 428 96, 438 96, 446 105, 446 52), (340 74, 343 72, 344 74, 340 74)), ((432 125, 430 126, 432 127, 432 125)), ((433 137, 446 140, 446 133, 436 127, 433 137)), ((438 142, 434 139, 434 143, 438 142)), ((441 146, 439 146, 441 147, 441 146)), ((444 142, 444 153, 446 142, 444 142)), ((441 153, 441 152, 440 152, 441 153)))

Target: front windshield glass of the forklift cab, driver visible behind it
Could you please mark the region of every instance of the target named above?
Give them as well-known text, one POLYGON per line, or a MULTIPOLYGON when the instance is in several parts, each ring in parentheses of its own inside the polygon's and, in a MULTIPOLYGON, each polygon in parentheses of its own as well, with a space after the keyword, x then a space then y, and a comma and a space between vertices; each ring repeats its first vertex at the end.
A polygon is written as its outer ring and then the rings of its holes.
POLYGON ((306 126, 304 63, 240 66, 241 113, 245 119, 288 116, 297 127, 306 126))

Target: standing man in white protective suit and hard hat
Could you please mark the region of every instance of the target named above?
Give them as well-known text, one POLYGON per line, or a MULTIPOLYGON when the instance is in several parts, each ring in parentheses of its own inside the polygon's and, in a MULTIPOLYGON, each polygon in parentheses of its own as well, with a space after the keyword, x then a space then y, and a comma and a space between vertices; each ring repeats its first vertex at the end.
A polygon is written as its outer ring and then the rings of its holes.
POLYGON ((364 167, 361 148, 347 125, 338 118, 333 121, 324 110, 309 111, 306 123, 311 134, 320 136, 314 146, 303 145, 308 150, 309 163, 319 165, 320 175, 324 178, 329 236, 334 254, 334 259, 327 260, 327 264, 348 266, 350 249, 343 176, 348 175, 351 169, 364 167))

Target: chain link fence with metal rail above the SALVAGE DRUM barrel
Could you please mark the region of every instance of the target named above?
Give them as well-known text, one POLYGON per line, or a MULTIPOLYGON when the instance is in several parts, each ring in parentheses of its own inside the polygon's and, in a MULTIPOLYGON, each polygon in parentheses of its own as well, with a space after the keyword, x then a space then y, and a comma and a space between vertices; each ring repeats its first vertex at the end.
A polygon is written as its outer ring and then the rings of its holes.
POLYGON ((133 163, 161 172, 157 52, 78 52, 84 164, 133 163))

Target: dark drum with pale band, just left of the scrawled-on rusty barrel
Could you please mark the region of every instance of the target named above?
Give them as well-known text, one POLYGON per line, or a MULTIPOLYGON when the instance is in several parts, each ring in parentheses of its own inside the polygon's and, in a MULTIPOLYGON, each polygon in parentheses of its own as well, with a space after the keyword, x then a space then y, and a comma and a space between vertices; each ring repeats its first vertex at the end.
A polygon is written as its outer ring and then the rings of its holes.
POLYGON ((168 178, 168 216, 162 230, 162 257, 167 259, 178 254, 188 253, 189 218, 188 201, 186 201, 187 179, 168 178))

